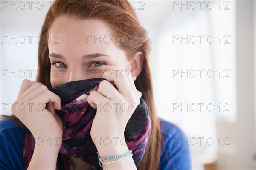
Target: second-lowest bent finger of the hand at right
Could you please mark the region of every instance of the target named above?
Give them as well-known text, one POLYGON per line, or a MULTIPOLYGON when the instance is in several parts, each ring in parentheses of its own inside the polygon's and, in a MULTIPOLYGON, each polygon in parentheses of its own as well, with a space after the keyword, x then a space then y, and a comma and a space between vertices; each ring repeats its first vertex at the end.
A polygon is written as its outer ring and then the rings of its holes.
POLYGON ((107 80, 100 82, 97 92, 108 99, 119 98, 120 95, 117 89, 107 80))

